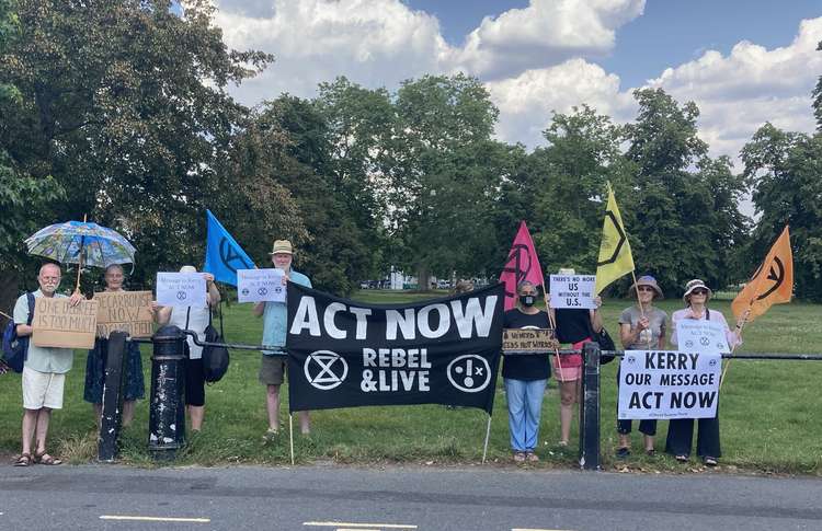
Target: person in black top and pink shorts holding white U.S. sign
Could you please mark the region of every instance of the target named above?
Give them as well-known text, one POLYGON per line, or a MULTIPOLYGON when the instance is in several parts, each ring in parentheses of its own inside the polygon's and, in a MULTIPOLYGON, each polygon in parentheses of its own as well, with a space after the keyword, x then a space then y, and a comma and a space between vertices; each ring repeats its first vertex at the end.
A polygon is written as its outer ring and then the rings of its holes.
MULTIPOLYGON (((570 268, 561 268, 559 275, 574 275, 570 268)), ((546 297, 550 304, 550 295, 546 297)), ((550 309, 551 320, 557 326, 557 339, 560 343, 570 344, 574 350, 581 350, 582 346, 593 339, 594 334, 602 330, 602 316, 600 305, 602 299, 594 298, 596 308, 593 310, 560 308, 550 309)), ((582 383, 582 355, 571 354, 551 358, 553 363, 553 378, 559 382, 559 446, 567 447, 571 437, 571 419, 574 416, 574 404, 580 403, 582 383)))

